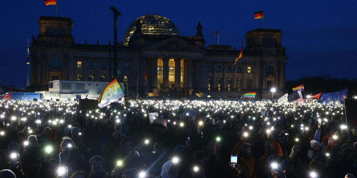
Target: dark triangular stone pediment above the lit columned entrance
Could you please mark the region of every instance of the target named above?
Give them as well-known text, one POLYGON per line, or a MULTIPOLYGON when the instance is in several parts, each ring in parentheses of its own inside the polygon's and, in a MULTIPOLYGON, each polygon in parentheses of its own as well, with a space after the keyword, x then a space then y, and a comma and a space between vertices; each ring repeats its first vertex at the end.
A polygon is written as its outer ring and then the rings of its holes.
POLYGON ((177 52, 206 52, 196 46, 187 43, 177 37, 172 37, 164 41, 155 43, 154 45, 147 46, 141 50, 145 51, 177 51, 177 52))

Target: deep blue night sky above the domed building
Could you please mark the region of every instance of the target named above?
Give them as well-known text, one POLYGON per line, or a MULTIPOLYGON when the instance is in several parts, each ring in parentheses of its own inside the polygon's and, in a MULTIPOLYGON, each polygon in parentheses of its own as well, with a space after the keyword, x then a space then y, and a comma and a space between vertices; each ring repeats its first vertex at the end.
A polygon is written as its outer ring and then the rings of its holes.
MULTIPOLYGON (((355 0, 57 0, 57 15, 72 18, 76 43, 84 43, 86 39, 89 44, 99 40, 106 45, 113 38, 113 17, 109 11, 113 5, 122 13, 118 22, 119 42, 137 17, 157 13, 174 22, 182 36, 195 36, 197 23, 201 21, 206 46, 217 44, 212 33, 219 30, 220 44, 237 48, 241 46, 241 38, 245 44, 243 35, 247 31, 262 27, 262 19, 254 19, 253 13, 264 10, 265 28, 278 28, 284 33, 282 46, 289 57, 287 80, 326 74, 357 77, 355 0)), ((46 6, 43 0, 2 1, 0 13, 1 85, 25 86, 27 34, 31 43, 31 35, 36 37, 39 33, 37 19, 42 15, 54 16, 55 6, 46 6)))

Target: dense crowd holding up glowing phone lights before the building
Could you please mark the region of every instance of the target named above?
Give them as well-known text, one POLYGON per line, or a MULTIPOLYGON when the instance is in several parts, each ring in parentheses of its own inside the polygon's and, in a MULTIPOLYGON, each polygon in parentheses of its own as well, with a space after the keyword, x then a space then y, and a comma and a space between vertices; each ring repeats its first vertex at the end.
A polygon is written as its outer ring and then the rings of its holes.
POLYGON ((0 101, 0 178, 352 178, 341 103, 0 101))

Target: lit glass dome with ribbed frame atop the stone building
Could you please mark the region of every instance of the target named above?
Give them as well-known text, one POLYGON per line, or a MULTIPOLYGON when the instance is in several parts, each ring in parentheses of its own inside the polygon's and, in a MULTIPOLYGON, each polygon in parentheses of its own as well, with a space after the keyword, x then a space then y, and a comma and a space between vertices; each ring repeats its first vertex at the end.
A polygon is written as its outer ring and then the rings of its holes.
POLYGON ((147 35, 180 35, 177 27, 169 19, 159 14, 146 14, 133 21, 125 32, 123 45, 127 45, 136 30, 136 21, 140 20, 141 32, 147 35))

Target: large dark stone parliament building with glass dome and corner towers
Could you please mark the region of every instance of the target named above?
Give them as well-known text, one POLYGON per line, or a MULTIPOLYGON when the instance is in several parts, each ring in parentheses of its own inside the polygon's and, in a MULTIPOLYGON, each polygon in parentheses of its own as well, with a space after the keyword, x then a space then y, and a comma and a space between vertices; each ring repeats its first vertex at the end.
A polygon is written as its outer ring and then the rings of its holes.
MULTIPOLYGON (((113 49, 109 45, 75 43, 73 22, 66 17, 41 16, 40 33, 32 39, 33 90, 48 90, 52 80, 109 82, 113 76, 113 49)), ((175 89, 189 94, 240 97, 257 91, 256 99, 274 98, 285 91, 285 48, 282 32, 257 28, 245 35, 243 59, 234 66, 239 49, 229 45, 205 46, 201 23, 195 36, 181 36, 166 17, 147 14, 128 27, 118 46, 118 65, 128 91, 160 95, 175 89), (137 75, 136 75, 137 72, 137 75), (145 74, 148 73, 148 86, 145 74), (137 76, 137 79, 136 79, 137 76)))

